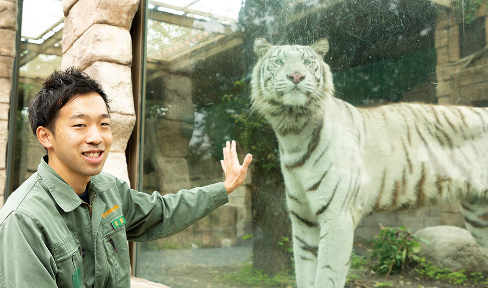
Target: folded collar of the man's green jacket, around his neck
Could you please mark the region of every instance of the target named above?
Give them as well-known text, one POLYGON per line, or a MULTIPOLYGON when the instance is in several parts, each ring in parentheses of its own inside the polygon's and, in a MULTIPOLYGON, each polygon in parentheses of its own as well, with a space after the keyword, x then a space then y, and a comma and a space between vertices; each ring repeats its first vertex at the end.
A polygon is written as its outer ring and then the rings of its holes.
MULTIPOLYGON (((82 204, 80 197, 75 193, 75 190, 59 176, 56 171, 47 163, 47 155, 41 158, 37 172, 41 176, 43 182, 47 186, 49 193, 56 201, 56 204, 63 209, 65 213, 75 210, 76 207, 82 204)), ((98 175, 92 176, 87 184, 87 188, 94 193, 101 193, 108 190, 113 183, 98 179, 98 175)))

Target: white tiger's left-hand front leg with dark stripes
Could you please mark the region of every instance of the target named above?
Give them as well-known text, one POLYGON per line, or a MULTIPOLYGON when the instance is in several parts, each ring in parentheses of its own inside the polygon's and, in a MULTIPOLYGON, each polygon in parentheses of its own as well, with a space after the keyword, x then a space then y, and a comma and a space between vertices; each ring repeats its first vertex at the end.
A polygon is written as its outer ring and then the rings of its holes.
POLYGON ((319 242, 318 224, 311 221, 309 210, 296 198, 288 197, 293 233, 293 257, 297 288, 314 288, 319 242))

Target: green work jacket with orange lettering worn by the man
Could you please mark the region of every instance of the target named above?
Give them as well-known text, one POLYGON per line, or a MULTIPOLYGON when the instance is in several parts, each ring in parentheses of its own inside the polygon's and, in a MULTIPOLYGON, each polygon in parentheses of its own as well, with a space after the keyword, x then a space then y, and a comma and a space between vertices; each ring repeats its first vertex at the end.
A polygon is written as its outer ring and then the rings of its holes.
POLYGON ((177 233, 227 203, 223 183, 161 196, 100 173, 84 203, 41 160, 0 210, 0 287, 130 287, 127 240, 177 233))

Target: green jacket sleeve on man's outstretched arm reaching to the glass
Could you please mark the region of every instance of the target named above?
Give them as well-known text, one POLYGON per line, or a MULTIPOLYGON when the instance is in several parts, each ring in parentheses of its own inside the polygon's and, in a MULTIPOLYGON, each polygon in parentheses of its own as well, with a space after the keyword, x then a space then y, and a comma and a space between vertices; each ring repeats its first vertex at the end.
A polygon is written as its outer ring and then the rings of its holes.
POLYGON ((121 184, 130 241, 151 241, 178 233, 229 201, 222 182, 164 196, 156 191, 152 195, 137 192, 121 184))

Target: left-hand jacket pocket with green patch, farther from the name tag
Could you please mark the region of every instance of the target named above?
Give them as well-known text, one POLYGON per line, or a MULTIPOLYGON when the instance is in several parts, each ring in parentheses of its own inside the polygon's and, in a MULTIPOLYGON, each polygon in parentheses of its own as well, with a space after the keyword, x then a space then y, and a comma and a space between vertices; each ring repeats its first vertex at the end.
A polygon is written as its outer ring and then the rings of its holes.
POLYGON ((74 239, 51 249, 56 262, 56 284, 58 287, 82 287, 83 269, 80 246, 74 239))

